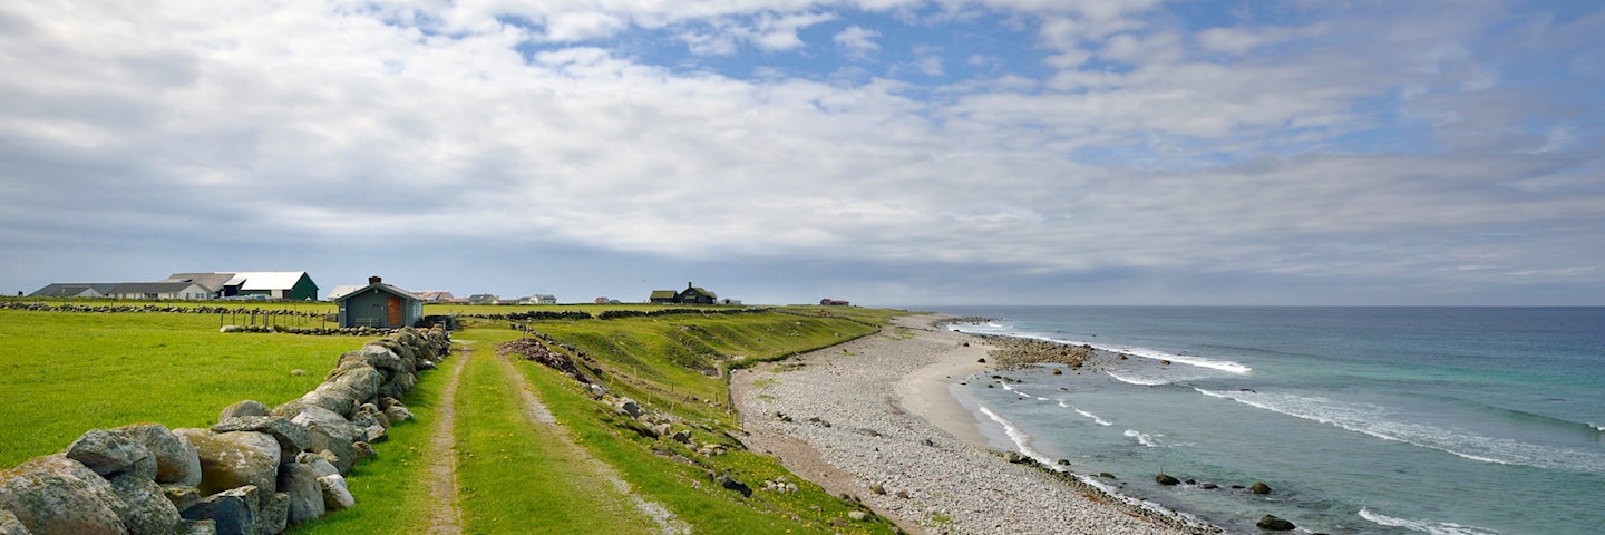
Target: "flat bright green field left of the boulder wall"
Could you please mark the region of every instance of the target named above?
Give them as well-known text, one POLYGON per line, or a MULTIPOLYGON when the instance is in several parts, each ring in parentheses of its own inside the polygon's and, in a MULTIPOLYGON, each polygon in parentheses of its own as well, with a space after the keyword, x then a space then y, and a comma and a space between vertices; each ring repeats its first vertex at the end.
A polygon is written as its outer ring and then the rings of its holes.
POLYGON ((215 315, 0 310, 0 468, 85 431, 204 427, 238 400, 278 405, 323 381, 353 337, 221 334, 215 315), (305 370, 292 376, 291 370, 305 370))

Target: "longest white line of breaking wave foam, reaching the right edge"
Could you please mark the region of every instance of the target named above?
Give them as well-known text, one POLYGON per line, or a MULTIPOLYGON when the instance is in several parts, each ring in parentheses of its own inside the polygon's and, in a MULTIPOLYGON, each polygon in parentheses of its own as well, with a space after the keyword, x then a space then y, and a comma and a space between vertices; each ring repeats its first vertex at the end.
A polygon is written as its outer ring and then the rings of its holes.
POLYGON ((1384 440, 1451 453, 1491 464, 1523 464, 1534 468, 1566 468, 1605 471, 1605 455, 1525 443, 1512 439, 1485 437, 1461 429, 1443 429, 1388 418, 1385 406, 1347 403, 1324 397, 1300 397, 1276 392, 1221 392, 1194 387, 1202 395, 1228 398, 1268 411, 1318 421, 1327 426, 1367 434, 1384 440))

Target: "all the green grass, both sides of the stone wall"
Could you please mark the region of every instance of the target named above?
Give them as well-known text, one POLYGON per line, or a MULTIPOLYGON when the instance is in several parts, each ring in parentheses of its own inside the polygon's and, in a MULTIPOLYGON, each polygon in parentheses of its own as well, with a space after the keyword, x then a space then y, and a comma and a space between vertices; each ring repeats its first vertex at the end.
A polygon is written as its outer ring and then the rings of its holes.
MULTIPOLYGON (((255 305, 255 304, 247 304, 255 305)), ((263 304, 271 308, 273 304, 263 304)), ((327 304, 291 304, 327 310, 327 304), (323 308, 318 308, 323 307, 323 308)), ((425 313, 499 315, 576 307, 427 307, 425 313), (482 310, 483 308, 483 310, 482 310)), ((584 305, 603 310, 661 307, 584 305)), ((855 307, 780 307, 737 315, 666 315, 616 320, 518 323, 571 357, 587 381, 668 413, 692 445, 655 437, 645 426, 595 402, 586 387, 542 365, 496 350, 530 334, 510 321, 465 320, 453 334, 451 358, 467 358, 456 390, 456 451, 430 443, 443 410, 449 368, 427 373, 408 394, 416 421, 390 429, 379 456, 350 477, 355 509, 291 533, 406 533, 430 525, 429 466, 456 455, 464 533, 658 532, 636 509, 661 504, 693 533, 891 533, 880 517, 786 472, 770 456, 742 450, 729 406, 729 370, 830 347, 878 333, 905 313, 855 307), (822 313, 823 312, 823 313, 822 313), (472 352, 461 352, 472 347, 472 352), (522 392, 533 392, 559 426, 530 424, 522 392), (705 455, 717 443, 722 455, 705 455), (589 464, 587 464, 589 463, 589 464), (610 468, 623 485, 595 477, 610 468), (586 466, 592 466, 587 469, 586 466), (754 492, 742 496, 714 484, 733 477, 754 492), (762 490, 764 480, 798 484, 796 493, 762 490)), ((295 334, 221 334, 212 313, 82 313, 0 310, 0 468, 59 451, 83 431, 157 421, 199 427, 241 398, 268 405, 315 387, 342 352, 366 339, 295 334), (295 376, 291 370, 305 370, 295 376)), ((316 321, 311 320, 311 321, 316 321)))

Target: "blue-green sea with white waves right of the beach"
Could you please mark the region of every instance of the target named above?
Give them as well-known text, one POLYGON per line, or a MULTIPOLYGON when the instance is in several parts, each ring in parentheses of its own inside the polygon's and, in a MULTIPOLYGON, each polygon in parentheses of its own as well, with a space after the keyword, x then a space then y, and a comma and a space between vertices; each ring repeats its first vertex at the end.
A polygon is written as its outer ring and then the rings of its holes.
POLYGON ((952 390, 993 447, 1124 496, 1249 533, 1605 533, 1605 308, 936 310, 1109 350, 952 390))

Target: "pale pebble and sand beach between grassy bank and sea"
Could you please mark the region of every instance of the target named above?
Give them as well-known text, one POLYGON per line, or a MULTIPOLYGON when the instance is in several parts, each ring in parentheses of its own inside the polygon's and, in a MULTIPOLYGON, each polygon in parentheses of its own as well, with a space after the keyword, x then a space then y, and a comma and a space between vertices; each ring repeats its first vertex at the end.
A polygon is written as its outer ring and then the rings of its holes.
POLYGON ((1197 532, 989 450, 949 389, 989 347, 941 318, 735 373, 743 442, 912 533, 1197 532))

